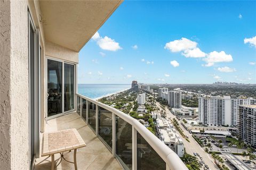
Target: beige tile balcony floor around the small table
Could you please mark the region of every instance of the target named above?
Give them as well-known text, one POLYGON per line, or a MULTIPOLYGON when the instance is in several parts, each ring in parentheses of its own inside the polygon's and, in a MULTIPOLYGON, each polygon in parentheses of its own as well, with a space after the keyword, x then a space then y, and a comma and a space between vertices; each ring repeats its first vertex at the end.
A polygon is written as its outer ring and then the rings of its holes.
MULTIPOLYGON (((76 128, 86 147, 77 149, 77 169, 122 169, 121 165, 115 158, 112 157, 111 152, 107 147, 96 137, 95 133, 86 125, 77 113, 53 118, 47 121, 45 132, 59 131, 65 129, 76 128)), ((42 146, 40 146, 41 149, 42 146)), ((73 162, 74 150, 65 152, 65 159, 73 162)), ((60 154, 55 154, 55 160, 60 157, 60 154)), ((40 157, 36 160, 36 170, 51 169, 51 157, 40 157)), ((69 170, 75 169, 74 164, 68 163, 62 159, 62 162, 56 169, 69 170)))

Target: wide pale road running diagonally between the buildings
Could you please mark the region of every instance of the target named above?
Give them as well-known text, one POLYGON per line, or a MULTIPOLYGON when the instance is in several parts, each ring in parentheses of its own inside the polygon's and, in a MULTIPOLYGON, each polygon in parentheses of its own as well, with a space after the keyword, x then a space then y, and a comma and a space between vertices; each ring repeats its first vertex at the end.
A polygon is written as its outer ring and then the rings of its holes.
MULTIPOLYGON (((156 102, 156 105, 160 110, 163 110, 161 105, 158 102, 156 102)), ((163 111, 166 112, 167 119, 172 119, 172 118, 176 117, 166 107, 165 107, 165 110, 163 110, 163 111)), ((179 124, 180 124, 180 122, 179 122, 179 124)), ((195 139, 192 137, 192 135, 185 128, 183 128, 183 126, 181 124, 180 124, 180 128, 183 130, 183 133, 189 137, 188 139, 190 142, 188 142, 185 138, 182 137, 182 135, 180 135, 180 137, 183 140, 184 147, 186 148, 186 152, 190 155, 194 155, 193 153, 197 152, 199 155, 201 155, 203 157, 205 164, 208 165, 211 170, 219 169, 217 167, 217 165, 214 164, 214 161, 211 158, 210 154, 206 154, 204 149, 198 145, 198 143, 195 141, 195 139)), ((197 156, 197 158, 198 158, 198 160, 200 160, 200 158, 198 156, 197 156)), ((203 169, 203 168, 201 168, 201 169, 203 169)))

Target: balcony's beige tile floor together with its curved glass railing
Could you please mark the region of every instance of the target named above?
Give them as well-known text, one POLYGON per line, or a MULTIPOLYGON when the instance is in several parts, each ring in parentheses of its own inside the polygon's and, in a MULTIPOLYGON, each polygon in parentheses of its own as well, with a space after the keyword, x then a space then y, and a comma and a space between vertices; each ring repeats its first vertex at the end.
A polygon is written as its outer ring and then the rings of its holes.
MULTIPOLYGON (((187 169, 178 155, 139 121, 79 94, 76 113, 54 118, 46 125, 47 132, 70 128, 76 128, 87 145, 77 152, 78 169, 187 169)), ((72 152, 65 156, 73 161, 72 152)), ((50 169, 50 157, 44 159, 37 160, 36 169, 50 169)), ((65 161, 58 166, 73 168, 65 161)))

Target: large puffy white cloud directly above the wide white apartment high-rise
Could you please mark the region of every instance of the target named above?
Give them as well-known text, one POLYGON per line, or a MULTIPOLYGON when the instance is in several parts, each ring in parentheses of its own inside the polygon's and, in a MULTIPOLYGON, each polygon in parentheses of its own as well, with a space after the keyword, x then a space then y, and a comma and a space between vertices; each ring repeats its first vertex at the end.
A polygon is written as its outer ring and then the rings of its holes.
POLYGON ((207 63, 204 66, 213 66, 214 63, 219 63, 219 62, 231 62, 233 61, 233 58, 230 54, 226 54, 225 52, 211 52, 207 54, 203 60, 207 63))

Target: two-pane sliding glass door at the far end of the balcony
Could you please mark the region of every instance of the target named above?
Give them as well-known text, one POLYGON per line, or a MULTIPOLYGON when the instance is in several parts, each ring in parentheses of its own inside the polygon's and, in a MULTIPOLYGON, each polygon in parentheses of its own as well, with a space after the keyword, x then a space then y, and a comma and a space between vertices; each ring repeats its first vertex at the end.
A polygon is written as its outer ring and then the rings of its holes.
POLYGON ((74 65, 47 60, 47 117, 74 110, 74 65))

